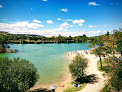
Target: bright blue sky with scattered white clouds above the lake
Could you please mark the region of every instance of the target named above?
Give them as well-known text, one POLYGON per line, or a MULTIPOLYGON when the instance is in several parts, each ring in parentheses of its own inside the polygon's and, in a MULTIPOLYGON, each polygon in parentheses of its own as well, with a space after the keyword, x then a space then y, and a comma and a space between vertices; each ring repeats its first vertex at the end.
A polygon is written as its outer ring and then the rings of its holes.
POLYGON ((98 36, 122 28, 122 0, 0 0, 0 31, 98 36))

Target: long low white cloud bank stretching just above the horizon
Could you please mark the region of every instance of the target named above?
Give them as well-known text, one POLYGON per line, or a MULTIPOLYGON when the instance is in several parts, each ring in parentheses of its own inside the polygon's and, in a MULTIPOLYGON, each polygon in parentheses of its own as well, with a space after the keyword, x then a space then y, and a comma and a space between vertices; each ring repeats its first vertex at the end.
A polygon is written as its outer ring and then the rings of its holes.
POLYGON ((30 29, 33 27, 39 26, 36 23, 28 23, 28 22, 17 22, 14 24, 7 24, 7 23, 0 23, 0 30, 2 31, 7 31, 11 34, 37 34, 37 35, 44 35, 47 37, 50 36, 78 36, 78 35, 83 35, 86 34, 87 36, 98 36, 100 33, 103 33, 103 31, 69 31, 65 27, 59 27, 59 28, 54 28, 54 29, 47 29, 47 30, 38 30, 36 28, 30 29), (30 28, 29 28, 30 27, 30 28))

